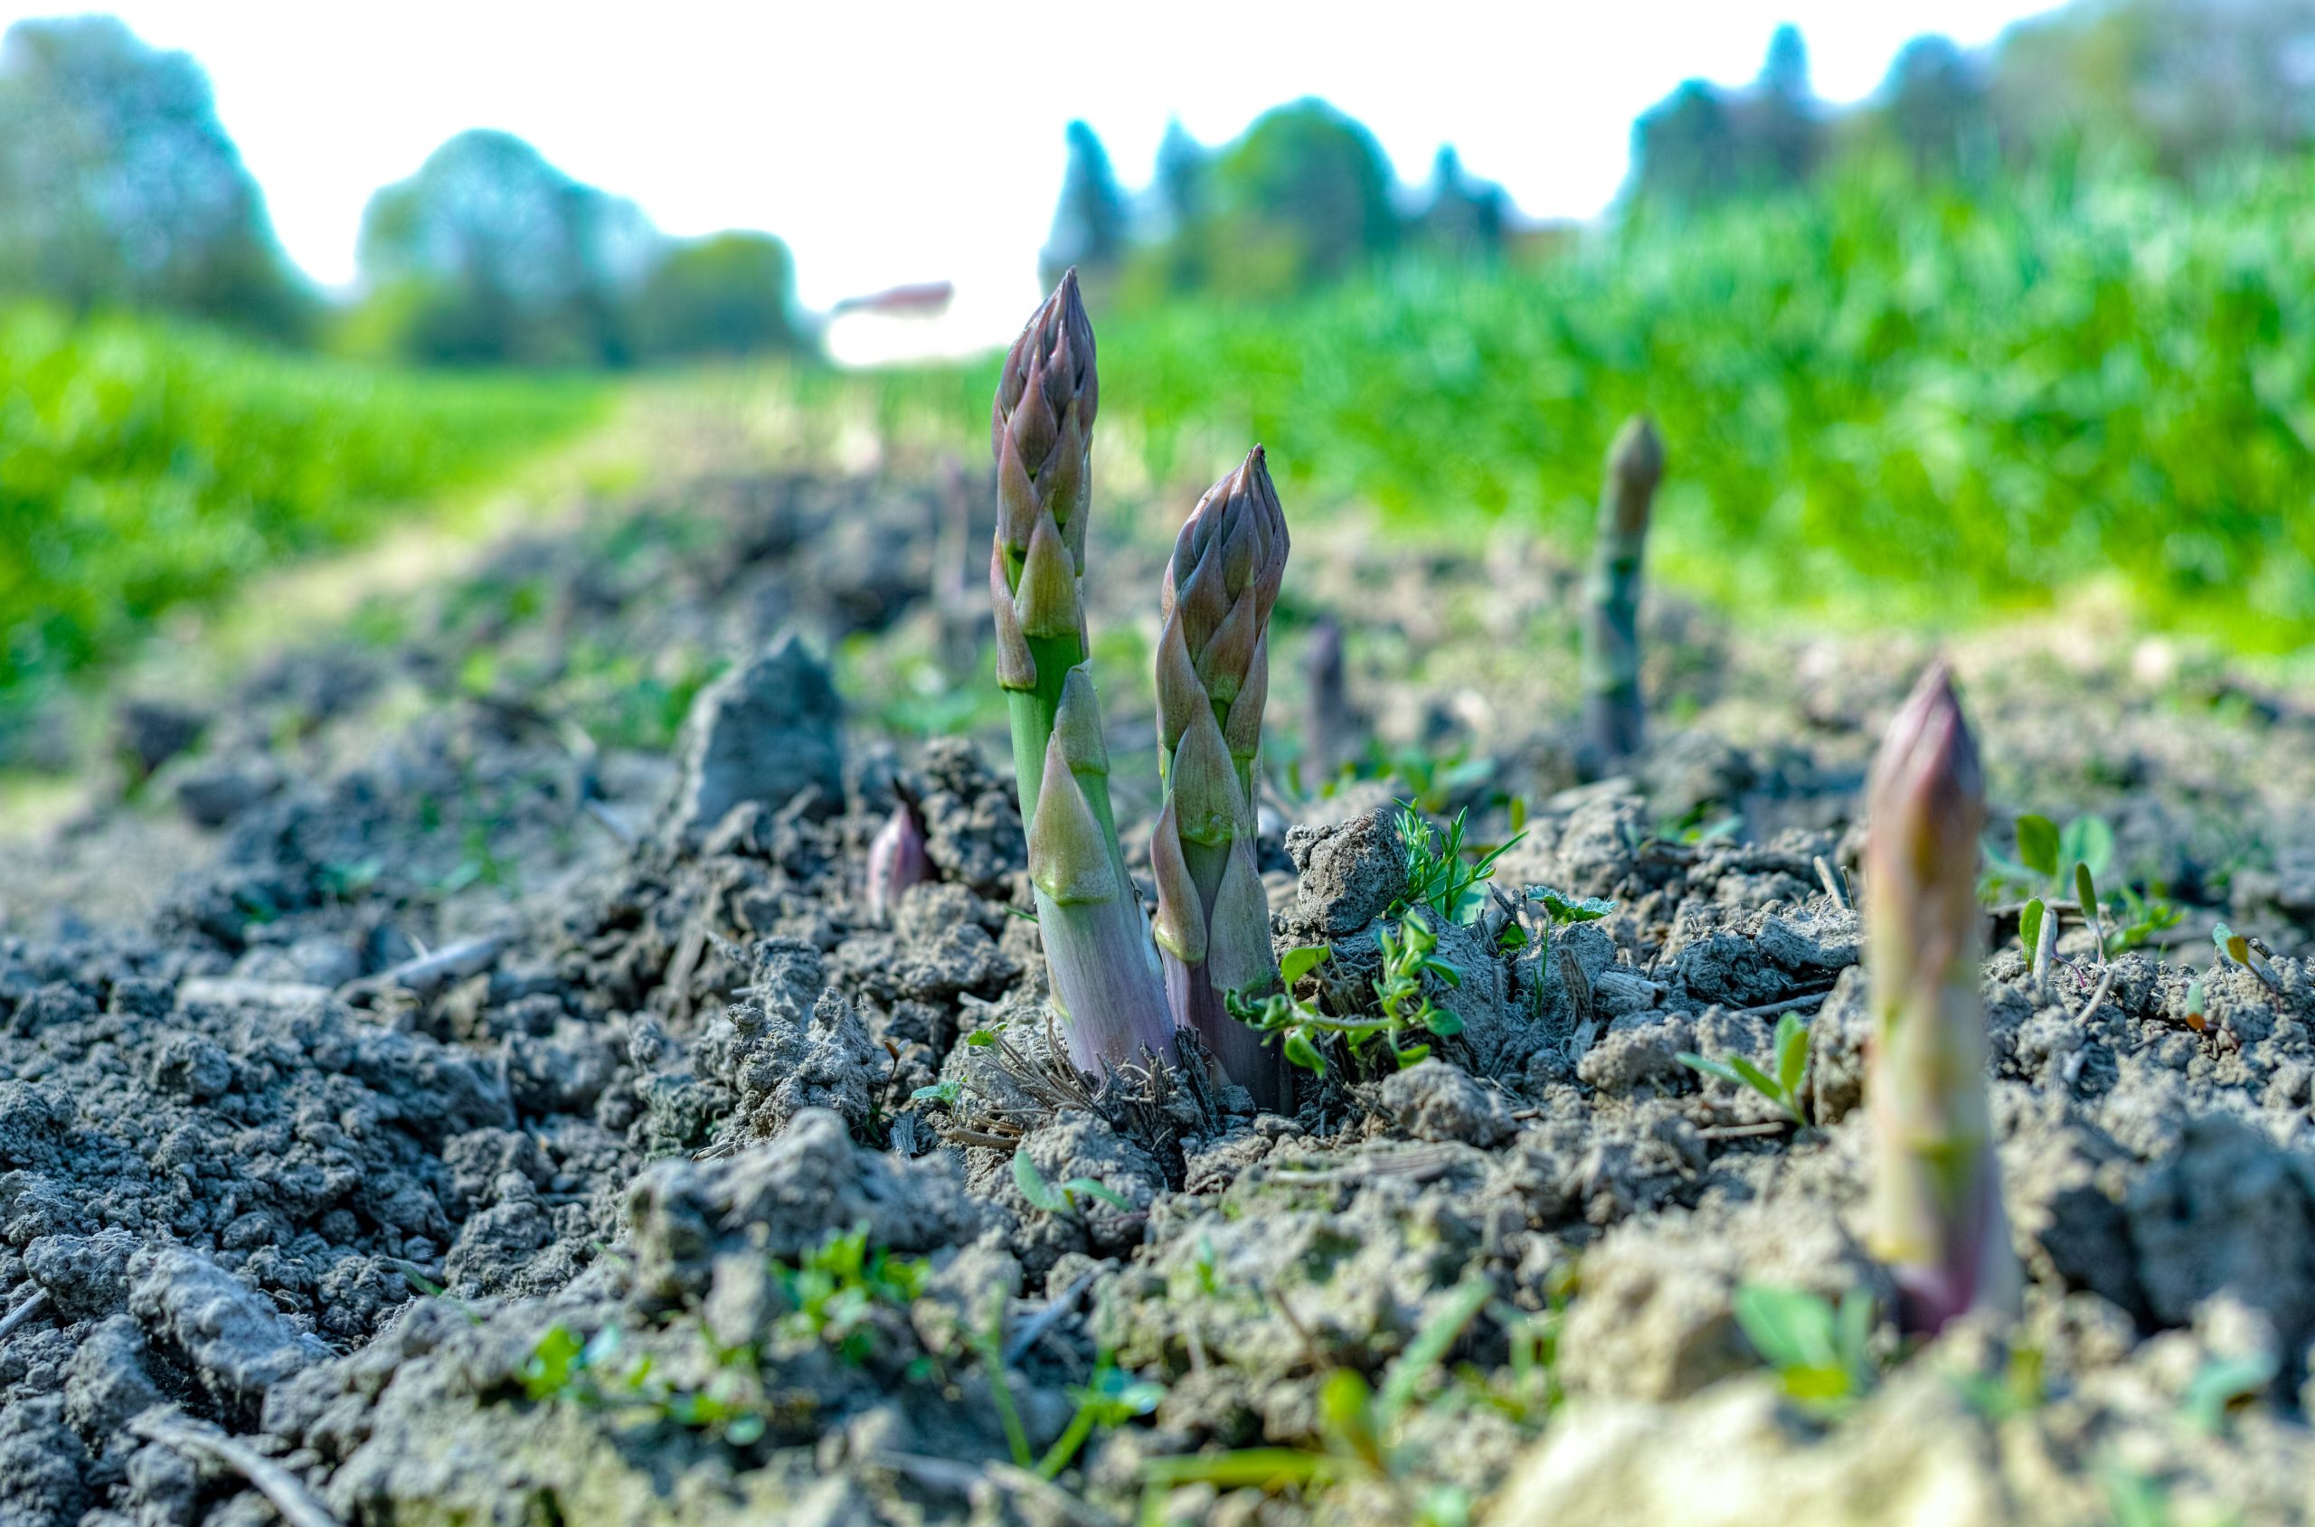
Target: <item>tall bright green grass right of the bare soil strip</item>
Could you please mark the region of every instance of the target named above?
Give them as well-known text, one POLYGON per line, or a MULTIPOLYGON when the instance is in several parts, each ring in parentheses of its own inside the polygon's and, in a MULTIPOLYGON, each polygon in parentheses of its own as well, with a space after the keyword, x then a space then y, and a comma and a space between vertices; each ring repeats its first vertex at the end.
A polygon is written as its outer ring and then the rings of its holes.
MULTIPOLYGON (((1732 606, 1956 625, 2104 578, 2155 625, 2287 648, 2315 636, 2308 268, 2306 162, 1977 197, 1852 171, 1537 268, 1095 315, 1102 430, 1169 490, 1262 440, 1289 514, 1509 516, 1577 548, 1646 407, 1658 567, 1732 606)), ((968 449, 991 377, 873 386, 968 449)))

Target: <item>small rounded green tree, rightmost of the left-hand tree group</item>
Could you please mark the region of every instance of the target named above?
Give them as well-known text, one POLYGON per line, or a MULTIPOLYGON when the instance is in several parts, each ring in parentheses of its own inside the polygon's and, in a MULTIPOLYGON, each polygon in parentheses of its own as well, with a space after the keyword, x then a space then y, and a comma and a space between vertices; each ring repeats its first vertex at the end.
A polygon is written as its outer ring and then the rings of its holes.
POLYGON ((713 234, 674 243, 634 294, 641 359, 738 356, 796 349, 796 271, 771 234, 713 234))

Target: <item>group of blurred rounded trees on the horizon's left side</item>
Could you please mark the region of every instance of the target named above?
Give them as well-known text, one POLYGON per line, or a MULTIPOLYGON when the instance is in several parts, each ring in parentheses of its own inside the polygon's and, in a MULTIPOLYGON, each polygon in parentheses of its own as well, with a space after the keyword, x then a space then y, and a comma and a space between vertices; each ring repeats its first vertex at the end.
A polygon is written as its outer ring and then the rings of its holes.
POLYGON ((806 345, 787 245, 669 238, 505 132, 461 132, 361 220, 363 296, 289 264, 208 76, 111 16, 0 39, 0 296, 144 308, 449 366, 630 366, 806 345))

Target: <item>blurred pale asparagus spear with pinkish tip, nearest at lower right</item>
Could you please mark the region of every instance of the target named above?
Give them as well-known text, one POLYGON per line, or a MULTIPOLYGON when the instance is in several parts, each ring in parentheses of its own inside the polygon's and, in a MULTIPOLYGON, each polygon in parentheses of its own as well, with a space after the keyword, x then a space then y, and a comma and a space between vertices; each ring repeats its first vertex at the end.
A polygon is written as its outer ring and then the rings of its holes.
POLYGON ((1986 791, 1945 664, 1889 724, 1866 807, 1871 1242, 1896 1277, 1903 1323, 1935 1333, 1968 1310, 2019 1305, 1977 995, 1986 791))

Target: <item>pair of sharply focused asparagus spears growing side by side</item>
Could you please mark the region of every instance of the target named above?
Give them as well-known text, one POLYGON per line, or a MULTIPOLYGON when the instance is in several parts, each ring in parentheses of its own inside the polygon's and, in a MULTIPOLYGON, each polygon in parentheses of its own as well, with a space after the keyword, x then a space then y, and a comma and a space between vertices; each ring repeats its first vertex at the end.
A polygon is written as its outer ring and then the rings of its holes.
POLYGON ((1174 1055, 1174 1032, 1188 1027, 1232 1080, 1276 1108, 1280 1062, 1229 1018, 1225 995, 1278 981, 1252 844, 1285 516, 1255 447, 1199 500, 1167 565, 1158 641, 1164 807, 1151 840, 1158 912, 1146 923, 1118 844, 1102 708, 1086 669, 1097 410, 1093 324, 1072 271, 1005 356, 991 416, 998 685, 1012 713, 1053 1002, 1067 1018, 1070 1057, 1086 1071, 1144 1050, 1174 1055))

